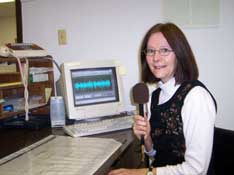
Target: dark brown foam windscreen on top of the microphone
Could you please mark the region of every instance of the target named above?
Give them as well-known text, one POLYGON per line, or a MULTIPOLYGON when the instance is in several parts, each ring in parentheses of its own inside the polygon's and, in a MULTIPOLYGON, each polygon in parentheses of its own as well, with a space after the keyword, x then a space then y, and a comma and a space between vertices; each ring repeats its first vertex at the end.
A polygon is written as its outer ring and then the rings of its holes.
POLYGON ((145 83, 137 83, 135 86, 133 86, 132 95, 134 103, 147 103, 149 100, 149 89, 145 83))

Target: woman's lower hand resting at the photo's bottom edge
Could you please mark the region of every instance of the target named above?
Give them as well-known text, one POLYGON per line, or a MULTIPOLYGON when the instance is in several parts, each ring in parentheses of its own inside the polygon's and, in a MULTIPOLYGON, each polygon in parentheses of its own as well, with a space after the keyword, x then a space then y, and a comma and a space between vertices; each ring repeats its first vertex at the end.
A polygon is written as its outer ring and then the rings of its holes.
POLYGON ((108 173, 108 175, 145 175, 147 169, 116 169, 108 173))

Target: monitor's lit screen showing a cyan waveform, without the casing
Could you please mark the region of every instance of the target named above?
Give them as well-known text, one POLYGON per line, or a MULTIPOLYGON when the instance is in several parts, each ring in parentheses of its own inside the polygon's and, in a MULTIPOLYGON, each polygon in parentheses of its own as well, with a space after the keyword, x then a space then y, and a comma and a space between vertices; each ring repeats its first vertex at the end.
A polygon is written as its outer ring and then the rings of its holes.
POLYGON ((75 106, 119 100, 115 67, 71 70, 75 106))

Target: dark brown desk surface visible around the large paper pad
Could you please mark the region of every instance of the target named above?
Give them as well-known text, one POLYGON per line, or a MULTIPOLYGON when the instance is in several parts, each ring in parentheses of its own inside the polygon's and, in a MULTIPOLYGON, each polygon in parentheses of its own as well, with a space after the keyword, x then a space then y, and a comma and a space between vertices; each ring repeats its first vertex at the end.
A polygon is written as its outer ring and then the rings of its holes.
MULTIPOLYGON (((1 129, 0 157, 9 155, 50 135, 65 135, 61 128, 1 129)), ((95 174, 106 174, 110 168, 137 168, 140 166, 140 144, 135 140, 131 130, 95 135, 95 137, 114 138, 122 143, 120 151, 113 154, 95 174)))

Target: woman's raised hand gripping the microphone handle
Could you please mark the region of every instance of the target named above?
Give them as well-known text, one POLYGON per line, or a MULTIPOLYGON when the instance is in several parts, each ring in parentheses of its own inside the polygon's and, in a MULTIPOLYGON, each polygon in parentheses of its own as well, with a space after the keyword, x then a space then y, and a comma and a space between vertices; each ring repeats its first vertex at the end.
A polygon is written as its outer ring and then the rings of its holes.
POLYGON ((146 115, 144 117, 140 115, 134 116, 133 132, 138 139, 141 139, 141 136, 144 136, 144 140, 150 138, 150 130, 150 123, 146 115))

